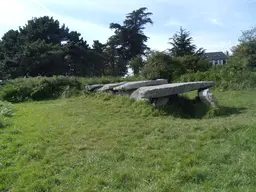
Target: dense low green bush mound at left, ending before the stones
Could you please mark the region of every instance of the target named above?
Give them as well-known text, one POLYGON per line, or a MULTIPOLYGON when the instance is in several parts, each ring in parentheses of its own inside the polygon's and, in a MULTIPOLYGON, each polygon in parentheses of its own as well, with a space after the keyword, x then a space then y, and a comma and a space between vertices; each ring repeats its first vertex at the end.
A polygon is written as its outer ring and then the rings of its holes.
POLYGON ((77 91, 83 89, 82 82, 74 77, 24 78, 8 81, 1 89, 1 98, 10 102, 54 99, 62 95, 67 87, 77 91))

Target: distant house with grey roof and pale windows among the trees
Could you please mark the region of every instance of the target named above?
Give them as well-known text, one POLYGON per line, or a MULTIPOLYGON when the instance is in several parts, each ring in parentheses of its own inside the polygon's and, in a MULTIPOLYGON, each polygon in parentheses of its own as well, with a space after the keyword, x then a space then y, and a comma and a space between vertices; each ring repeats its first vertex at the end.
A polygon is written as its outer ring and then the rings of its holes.
POLYGON ((204 54, 204 58, 209 60, 213 66, 226 64, 228 57, 228 52, 227 55, 223 52, 209 52, 204 54))

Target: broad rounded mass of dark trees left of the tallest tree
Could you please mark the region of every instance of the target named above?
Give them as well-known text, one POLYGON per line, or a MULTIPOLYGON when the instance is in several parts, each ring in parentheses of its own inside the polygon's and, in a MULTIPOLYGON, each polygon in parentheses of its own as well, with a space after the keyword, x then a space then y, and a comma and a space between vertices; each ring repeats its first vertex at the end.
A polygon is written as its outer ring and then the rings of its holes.
POLYGON ((9 30, 0 41, 0 78, 104 75, 104 50, 91 49, 80 36, 47 16, 9 30))

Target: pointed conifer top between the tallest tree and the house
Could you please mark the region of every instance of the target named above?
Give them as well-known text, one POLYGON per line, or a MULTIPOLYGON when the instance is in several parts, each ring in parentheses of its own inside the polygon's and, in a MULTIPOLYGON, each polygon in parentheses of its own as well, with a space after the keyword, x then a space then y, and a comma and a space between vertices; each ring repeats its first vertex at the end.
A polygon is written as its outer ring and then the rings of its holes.
POLYGON ((204 49, 200 48, 196 50, 196 45, 193 44, 193 38, 190 37, 190 32, 180 28, 179 32, 176 32, 172 38, 169 39, 169 44, 172 48, 169 49, 170 53, 174 57, 183 57, 186 55, 198 55, 204 54, 204 49))

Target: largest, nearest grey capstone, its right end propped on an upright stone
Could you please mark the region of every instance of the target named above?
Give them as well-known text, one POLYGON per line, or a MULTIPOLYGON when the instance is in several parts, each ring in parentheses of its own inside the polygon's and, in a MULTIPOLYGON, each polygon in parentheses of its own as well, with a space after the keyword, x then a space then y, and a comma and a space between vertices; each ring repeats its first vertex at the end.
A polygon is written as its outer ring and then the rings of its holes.
POLYGON ((161 98, 186 93, 193 90, 203 90, 214 86, 215 82, 213 81, 198 81, 140 87, 134 91, 130 97, 135 100, 161 98))

